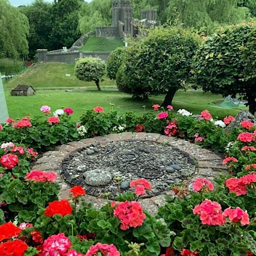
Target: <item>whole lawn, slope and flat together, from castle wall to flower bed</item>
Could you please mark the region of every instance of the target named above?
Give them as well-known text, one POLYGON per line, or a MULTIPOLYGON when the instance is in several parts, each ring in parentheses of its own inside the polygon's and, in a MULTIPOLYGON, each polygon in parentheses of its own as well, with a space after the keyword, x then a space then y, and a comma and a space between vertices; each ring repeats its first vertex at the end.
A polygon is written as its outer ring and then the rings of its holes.
MULTIPOLYGON (((164 99, 164 95, 158 95, 151 96, 147 103, 136 102, 131 99, 130 95, 120 93, 116 89, 115 81, 107 78, 101 83, 101 87, 103 90, 98 91, 94 82, 79 81, 74 75, 74 64, 64 63, 37 64, 29 67, 26 72, 4 85, 9 115, 12 118, 20 118, 30 113, 32 116, 38 115, 42 105, 49 105, 53 111, 62 107, 73 108, 75 111, 73 116, 78 120, 84 110, 92 109, 98 105, 105 108, 106 111, 111 110, 109 103, 114 103, 115 109, 119 108, 120 111, 140 112, 143 111, 143 105, 147 106, 147 110, 151 110, 153 104, 160 104, 164 99), (66 77, 65 74, 71 76, 66 77), (17 84, 32 85, 36 89, 35 96, 10 96, 10 90, 17 84), (67 88, 72 89, 72 91, 65 91, 67 88)), ((178 91, 175 94, 173 106, 176 111, 179 108, 185 108, 197 114, 208 109, 213 116, 220 118, 236 115, 239 112, 239 109, 220 108, 219 101, 222 99, 221 95, 212 93, 194 90, 178 91)))

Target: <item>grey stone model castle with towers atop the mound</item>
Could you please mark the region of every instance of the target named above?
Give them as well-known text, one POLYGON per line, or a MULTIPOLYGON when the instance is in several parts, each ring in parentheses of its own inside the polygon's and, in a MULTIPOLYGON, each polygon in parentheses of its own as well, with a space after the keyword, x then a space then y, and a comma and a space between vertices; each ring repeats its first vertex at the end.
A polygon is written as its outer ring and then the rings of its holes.
POLYGON ((138 24, 148 28, 160 26, 157 21, 156 9, 144 9, 141 11, 141 20, 132 16, 130 0, 114 0, 112 2, 112 24, 111 26, 96 26, 96 37, 102 38, 124 38, 127 35, 135 37, 138 35, 138 24))

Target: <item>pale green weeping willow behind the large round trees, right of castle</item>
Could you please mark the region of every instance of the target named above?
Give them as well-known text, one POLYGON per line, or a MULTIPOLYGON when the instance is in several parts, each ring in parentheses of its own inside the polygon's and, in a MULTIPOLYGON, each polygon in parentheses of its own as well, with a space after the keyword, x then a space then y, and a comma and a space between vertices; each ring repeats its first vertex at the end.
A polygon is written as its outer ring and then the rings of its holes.
POLYGON ((185 27, 211 33, 219 24, 239 23, 250 19, 250 10, 239 6, 241 0, 170 0, 166 17, 178 19, 185 27))

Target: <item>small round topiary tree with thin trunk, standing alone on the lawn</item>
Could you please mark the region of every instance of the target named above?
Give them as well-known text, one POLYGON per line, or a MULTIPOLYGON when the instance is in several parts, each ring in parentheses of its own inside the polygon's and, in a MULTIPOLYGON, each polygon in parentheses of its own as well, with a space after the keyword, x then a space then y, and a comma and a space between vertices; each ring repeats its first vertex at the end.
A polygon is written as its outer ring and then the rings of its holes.
POLYGON ((81 81, 94 81, 98 90, 99 81, 105 73, 105 62, 100 58, 87 57, 76 61, 75 75, 81 81))

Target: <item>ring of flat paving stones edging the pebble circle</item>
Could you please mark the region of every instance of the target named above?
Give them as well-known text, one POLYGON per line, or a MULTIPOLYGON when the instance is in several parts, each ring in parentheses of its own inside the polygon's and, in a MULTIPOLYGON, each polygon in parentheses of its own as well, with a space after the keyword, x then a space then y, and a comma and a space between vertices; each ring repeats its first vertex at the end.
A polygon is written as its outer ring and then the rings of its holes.
MULTIPOLYGON (((172 147, 178 148, 180 151, 184 151, 190 155, 193 159, 197 161, 197 172, 188 180, 188 183, 199 178, 205 177, 208 180, 213 180, 214 177, 218 176, 220 172, 227 173, 227 167, 222 165, 222 159, 217 154, 209 151, 205 148, 201 148, 199 145, 190 143, 189 141, 182 140, 176 137, 167 137, 161 134, 154 133, 133 133, 133 132, 123 132, 119 134, 109 134, 107 136, 99 136, 90 139, 83 139, 80 141, 73 141, 67 144, 57 146, 54 151, 48 151, 39 158, 33 169, 42 170, 46 172, 55 172, 58 174, 56 182, 61 185, 61 192, 59 198, 68 198, 70 186, 61 178, 61 164, 62 161, 74 154, 76 151, 82 148, 87 148, 91 145, 99 146, 113 141, 125 141, 125 140, 142 140, 151 141, 156 143, 162 143, 172 147)), ((166 194, 173 195, 173 192, 167 192, 166 194)), ((145 198, 140 201, 144 209, 150 212, 152 215, 156 215, 157 209, 160 206, 166 204, 163 195, 157 195, 152 198, 145 198)), ((86 195, 85 199, 93 203, 93 207, 100 208, 104 206, 107 202, 106 199, 96 198, 90 195, 86 195)))

